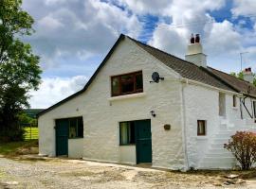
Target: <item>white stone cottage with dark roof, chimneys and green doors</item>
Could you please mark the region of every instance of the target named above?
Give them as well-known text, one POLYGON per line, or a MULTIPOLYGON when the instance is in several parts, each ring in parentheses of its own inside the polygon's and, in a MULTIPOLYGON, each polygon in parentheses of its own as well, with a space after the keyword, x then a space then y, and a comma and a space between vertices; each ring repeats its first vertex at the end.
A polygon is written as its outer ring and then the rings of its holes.
MULTIPOLYGON (((251 80, 250 69, 246 75, 251 80)), ((223 144, 236 130, 256 127, 255 109, 256 88, 208 67, 199 36, 182 60, 120 35, 80 92, 38 115, 39 153, 231 168, 235 160, 223 144)))

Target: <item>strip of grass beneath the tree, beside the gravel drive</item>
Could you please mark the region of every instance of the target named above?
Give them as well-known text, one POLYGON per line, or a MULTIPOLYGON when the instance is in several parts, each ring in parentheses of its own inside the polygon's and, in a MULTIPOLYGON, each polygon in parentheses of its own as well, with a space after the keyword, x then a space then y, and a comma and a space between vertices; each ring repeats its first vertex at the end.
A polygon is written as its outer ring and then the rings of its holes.
POLYGON ((4 156, 17 155, 21 149, 29 149, 31 147, 38 147, 38 140, 0 143, 0 154, 4 156))

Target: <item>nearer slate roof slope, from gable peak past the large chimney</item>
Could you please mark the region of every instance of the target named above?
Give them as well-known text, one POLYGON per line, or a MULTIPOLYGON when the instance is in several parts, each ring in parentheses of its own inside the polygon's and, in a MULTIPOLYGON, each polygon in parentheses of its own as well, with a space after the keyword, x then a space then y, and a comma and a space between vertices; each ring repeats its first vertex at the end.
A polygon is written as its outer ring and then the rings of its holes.
POLYGON ((138 46, 146 50, 148 53, 153 55, 157 60, 160 60, 168 67, 172 68, 181 77, 189 78, 201 83, 211 85, 213 87, 234 91, 230 86, 225 84, 222 80, 217 79, 208 72, 206 68, 199 67, 190 61, 182 60, 173 55, 170 55, 164 51, 161 51, 148 44, 140 43, 137 40, 129 38, 138 46))

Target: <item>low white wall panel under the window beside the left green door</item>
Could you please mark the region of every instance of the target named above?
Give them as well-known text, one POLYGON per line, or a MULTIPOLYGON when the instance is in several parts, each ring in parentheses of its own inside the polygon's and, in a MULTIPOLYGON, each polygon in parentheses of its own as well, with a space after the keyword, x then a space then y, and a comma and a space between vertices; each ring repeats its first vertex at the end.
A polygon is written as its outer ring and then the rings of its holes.
POLYGON ((82 158, 83 138, 68 139, 68 157, 82 158))

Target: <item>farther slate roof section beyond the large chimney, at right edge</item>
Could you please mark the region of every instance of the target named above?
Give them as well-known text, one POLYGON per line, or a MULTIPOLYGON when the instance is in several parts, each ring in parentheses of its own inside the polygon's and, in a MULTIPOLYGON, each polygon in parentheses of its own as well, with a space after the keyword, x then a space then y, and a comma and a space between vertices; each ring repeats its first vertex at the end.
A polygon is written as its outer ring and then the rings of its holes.
POLYGON ((247 82, 246 80, 230 76, 225 72, 221 72, 214 68, 208 67, 208 70, 214 74, 216 77, 224 80, 229 86, 234 88, 236 91, 241 92, 242 94, 247 94, 253 97, 256 97, 256 87, 247 82))

